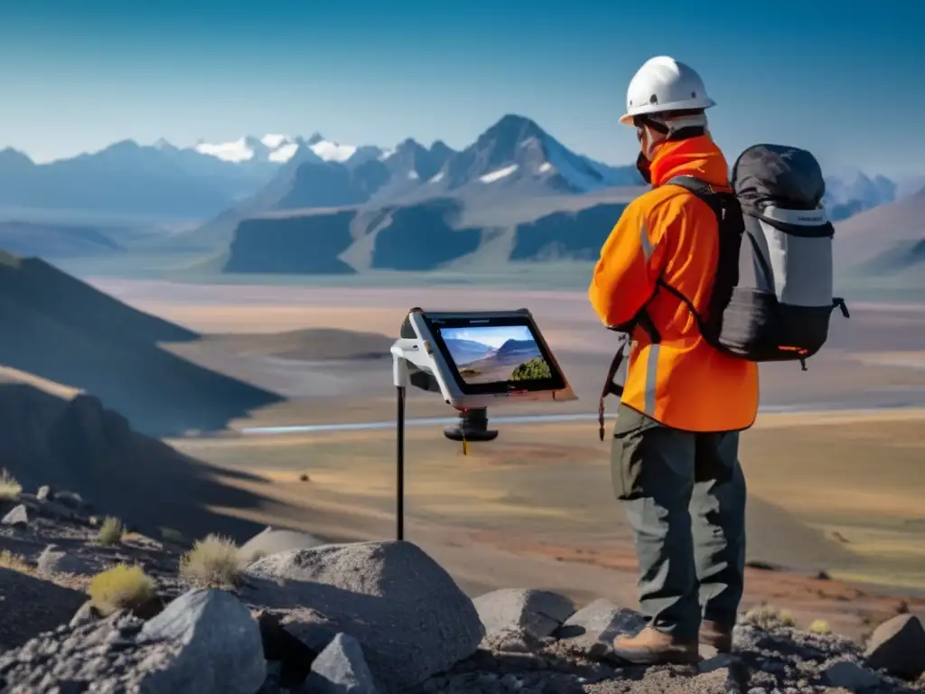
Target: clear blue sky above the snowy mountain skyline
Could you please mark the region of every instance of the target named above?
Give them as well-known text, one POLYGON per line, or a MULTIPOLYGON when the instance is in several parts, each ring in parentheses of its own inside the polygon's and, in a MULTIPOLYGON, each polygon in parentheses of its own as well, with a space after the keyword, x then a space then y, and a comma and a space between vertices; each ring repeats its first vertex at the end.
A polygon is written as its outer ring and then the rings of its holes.
POLYGON ((925 2, 0 0, 0 146, 37 160, 126 138, 322 132, 471 143, 505 113, 582 154, 635 159, 617 123, 648 57, 700 71, 734 158, 925 169, 925 2))

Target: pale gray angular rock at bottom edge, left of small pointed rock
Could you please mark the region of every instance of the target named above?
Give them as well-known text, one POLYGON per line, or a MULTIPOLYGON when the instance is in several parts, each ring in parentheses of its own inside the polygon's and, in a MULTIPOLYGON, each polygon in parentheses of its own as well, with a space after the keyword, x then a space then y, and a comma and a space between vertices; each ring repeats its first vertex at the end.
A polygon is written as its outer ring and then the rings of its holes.
POLYGON ((152 691, 254 694, 266 677, 260 629, 248 609, 224 590, 184 593, 145 623, 137 641, 177 649, 165 667, 145 679, 152 691))

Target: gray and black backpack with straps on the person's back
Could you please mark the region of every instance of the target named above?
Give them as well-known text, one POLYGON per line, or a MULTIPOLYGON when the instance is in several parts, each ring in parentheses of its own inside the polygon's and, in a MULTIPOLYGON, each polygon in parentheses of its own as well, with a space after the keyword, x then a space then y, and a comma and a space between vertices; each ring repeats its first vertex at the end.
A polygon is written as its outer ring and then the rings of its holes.
MULTIPOLYGON (((704 340, 722 353, 753 362, 799 361, 806 370, 806 360, 829 337, 833 309, 848 317, 845 301, 833 296, 834 228, 821 205, 819 162, 796 147, 756 144, 735 161, 731 183, 734 193, 687 176, 667 181, 709 204, 719 222, 720 250, 703 315, 663 279, 660 289, 687 305, 704 340)), ((645 307, 611 329, 630 334, 637 326, 660 341, 645 307)), ((614 357, 601 393, 601 440, 604 398, 623 394, 613 381, 623 353, 614 357)))

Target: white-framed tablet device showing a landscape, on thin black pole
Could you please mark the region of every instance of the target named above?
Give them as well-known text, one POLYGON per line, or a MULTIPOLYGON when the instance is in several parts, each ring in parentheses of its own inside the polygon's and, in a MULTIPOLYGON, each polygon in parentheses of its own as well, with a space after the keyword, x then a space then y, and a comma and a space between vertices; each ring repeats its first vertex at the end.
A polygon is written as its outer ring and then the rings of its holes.
POLYGON ((438 392, 460 421, 451 440, 493 440, 487 406, 577 400, 536 320, 516 311, 430 312, 415 307, 390 350, 396 391, 396 539, 404 539, 404 424, 408 386, 438 392))

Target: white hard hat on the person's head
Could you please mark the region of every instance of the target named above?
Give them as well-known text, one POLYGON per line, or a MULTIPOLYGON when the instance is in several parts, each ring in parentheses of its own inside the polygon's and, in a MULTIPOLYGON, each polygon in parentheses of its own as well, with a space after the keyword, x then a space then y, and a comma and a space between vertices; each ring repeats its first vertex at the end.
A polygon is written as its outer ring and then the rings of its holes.
POLYGON ((626 90, 626 113, 620 118, 632 125, 633 117, 645 113, 709 108, 716 102, 709 98, 703 80, 694 68, 672 57, 649 58, 633 76, 626 90))

